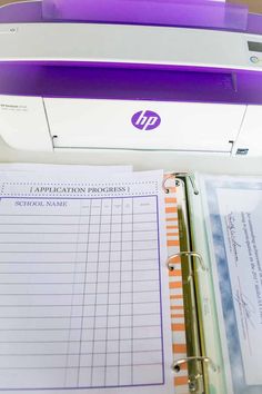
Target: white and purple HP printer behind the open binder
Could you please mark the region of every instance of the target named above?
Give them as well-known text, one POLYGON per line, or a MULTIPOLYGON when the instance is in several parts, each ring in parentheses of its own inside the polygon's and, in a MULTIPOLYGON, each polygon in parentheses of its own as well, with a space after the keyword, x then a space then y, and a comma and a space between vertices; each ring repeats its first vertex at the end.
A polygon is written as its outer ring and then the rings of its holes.
POLYGON ((118 23, 44 19, 40 1, 2 7, 1 161, 260 174, 262 17, 221 7, 212 28, 167 13, 160 26, 154 8, 124 24, 127 7, 118 23))

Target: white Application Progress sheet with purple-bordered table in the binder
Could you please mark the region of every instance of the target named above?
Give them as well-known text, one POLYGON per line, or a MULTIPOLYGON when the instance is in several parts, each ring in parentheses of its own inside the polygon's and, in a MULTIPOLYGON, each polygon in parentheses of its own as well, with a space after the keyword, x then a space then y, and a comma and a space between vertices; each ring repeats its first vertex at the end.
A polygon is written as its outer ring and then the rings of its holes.
POLYGON ((1 174, 0 392, 172 393, 163 174, 70 176, 1 174))

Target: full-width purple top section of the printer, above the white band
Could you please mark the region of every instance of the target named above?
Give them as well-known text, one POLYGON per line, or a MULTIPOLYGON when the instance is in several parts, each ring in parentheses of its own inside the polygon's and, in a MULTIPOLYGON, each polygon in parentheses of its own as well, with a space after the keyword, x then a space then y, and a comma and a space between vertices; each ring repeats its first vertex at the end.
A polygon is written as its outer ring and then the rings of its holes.
POLYGON ((251 29, 251 32, 260 33, 262 23, 259 18, 260 16, 250 18, 245 6, 208 0, 191 0, 187 3, 178 0, 88 0, 84 3, 82 0, 43 0, 11 3, 0 8, 0 23, 81 20, 236 31, 251 29), (256 31, 252 28, 253 24, 256 31))

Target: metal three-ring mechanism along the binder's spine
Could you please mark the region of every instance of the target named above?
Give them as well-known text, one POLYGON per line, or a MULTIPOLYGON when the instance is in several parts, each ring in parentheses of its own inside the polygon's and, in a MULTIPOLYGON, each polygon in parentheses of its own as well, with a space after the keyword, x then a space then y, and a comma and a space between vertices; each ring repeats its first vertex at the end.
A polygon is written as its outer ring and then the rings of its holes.
POLYGON ((194 183, 194 176, 188 173, 172 173, 163 180, 163 189, 165 194, 171 190, 170 185, 173 179, 178 195, 178 221, 180 235, 180 253, 169 256, 167 267, 169 270, 175 270, 175 262, 178 257, 182 266, 183 282, 183 302, 184 302, 184 318, 185 318, 185 335, 187 335, 187 353, 188 356, 174 361, 172 371, 179 374, 184 364, 189 371, 189 391, 191 393, 209 393, 208 388, 208 370, 209 365, 213 372, 219 372, 219 367, 208 357, 202 348, 200 339, 200 315, 198 309, 196 273, 203 275, 208 272, 202 256, 192 250, 192 239, 190 232, 187 184, 189 180, 194 195, 199 195, 199 190, 194 183))

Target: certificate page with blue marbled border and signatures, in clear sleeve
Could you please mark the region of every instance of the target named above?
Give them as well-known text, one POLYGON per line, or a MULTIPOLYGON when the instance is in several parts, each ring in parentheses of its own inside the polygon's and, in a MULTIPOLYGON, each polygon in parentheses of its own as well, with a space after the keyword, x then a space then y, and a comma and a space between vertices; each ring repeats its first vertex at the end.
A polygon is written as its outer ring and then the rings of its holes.
POLYGON ((203 177, 202 189, 229 393, 261 393, 262 178, 203 177))

